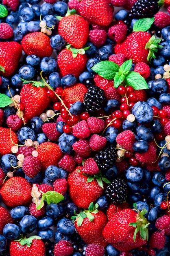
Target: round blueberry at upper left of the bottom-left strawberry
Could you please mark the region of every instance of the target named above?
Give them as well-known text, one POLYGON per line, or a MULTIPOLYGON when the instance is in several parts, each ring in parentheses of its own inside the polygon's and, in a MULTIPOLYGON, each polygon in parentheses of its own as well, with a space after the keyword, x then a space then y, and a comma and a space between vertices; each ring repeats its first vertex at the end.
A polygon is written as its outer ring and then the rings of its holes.
POLYGON ((3 228, 3 235, 9 240, 17 239, 20 234, 21 230, 16 224, 8 223, 3 228))

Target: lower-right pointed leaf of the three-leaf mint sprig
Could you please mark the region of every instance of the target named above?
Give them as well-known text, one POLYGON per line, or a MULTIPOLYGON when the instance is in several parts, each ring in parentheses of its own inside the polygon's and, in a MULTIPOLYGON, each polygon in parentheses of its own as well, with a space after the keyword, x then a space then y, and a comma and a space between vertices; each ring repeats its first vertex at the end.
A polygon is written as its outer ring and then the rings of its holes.
POLYGON ((126 85, 131 85, 135 90, 148 89, 145 79, 137 72, 131 71, 124 78, 126 85))

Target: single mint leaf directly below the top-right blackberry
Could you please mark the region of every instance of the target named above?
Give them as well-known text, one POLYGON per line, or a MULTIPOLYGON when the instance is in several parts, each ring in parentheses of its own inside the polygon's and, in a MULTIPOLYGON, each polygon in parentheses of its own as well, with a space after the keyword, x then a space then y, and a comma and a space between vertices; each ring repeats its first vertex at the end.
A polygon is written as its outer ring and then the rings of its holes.
POLYGON ((154 22, 154 17, 139 19, 133 25, 133 31, 135 31, 135 32, 146 31, 146 30, 150 29, 153 22, 154 22))

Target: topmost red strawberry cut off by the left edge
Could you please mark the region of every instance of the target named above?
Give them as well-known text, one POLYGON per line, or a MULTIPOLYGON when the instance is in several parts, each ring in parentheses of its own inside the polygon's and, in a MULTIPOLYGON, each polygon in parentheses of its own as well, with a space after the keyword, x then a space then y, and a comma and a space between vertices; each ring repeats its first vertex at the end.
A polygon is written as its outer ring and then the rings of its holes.
POLYGON ((0 52, 0 75, 11 76, 17 69, 22 55, 22 46, 13 41, 0 42, 0 52), (4 72, 1 66, 4 68, 4 72))

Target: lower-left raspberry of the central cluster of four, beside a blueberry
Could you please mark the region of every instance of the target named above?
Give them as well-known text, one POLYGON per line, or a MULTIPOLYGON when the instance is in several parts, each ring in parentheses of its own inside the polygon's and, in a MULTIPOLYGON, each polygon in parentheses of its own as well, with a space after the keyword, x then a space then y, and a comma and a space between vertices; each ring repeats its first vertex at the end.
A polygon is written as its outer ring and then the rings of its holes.
POLYGON ((72 147, 76 154, 80 157, 87 158, 91 153, 91 148, 87 139, 79 139, 78 141, 73 143, 72 147))

